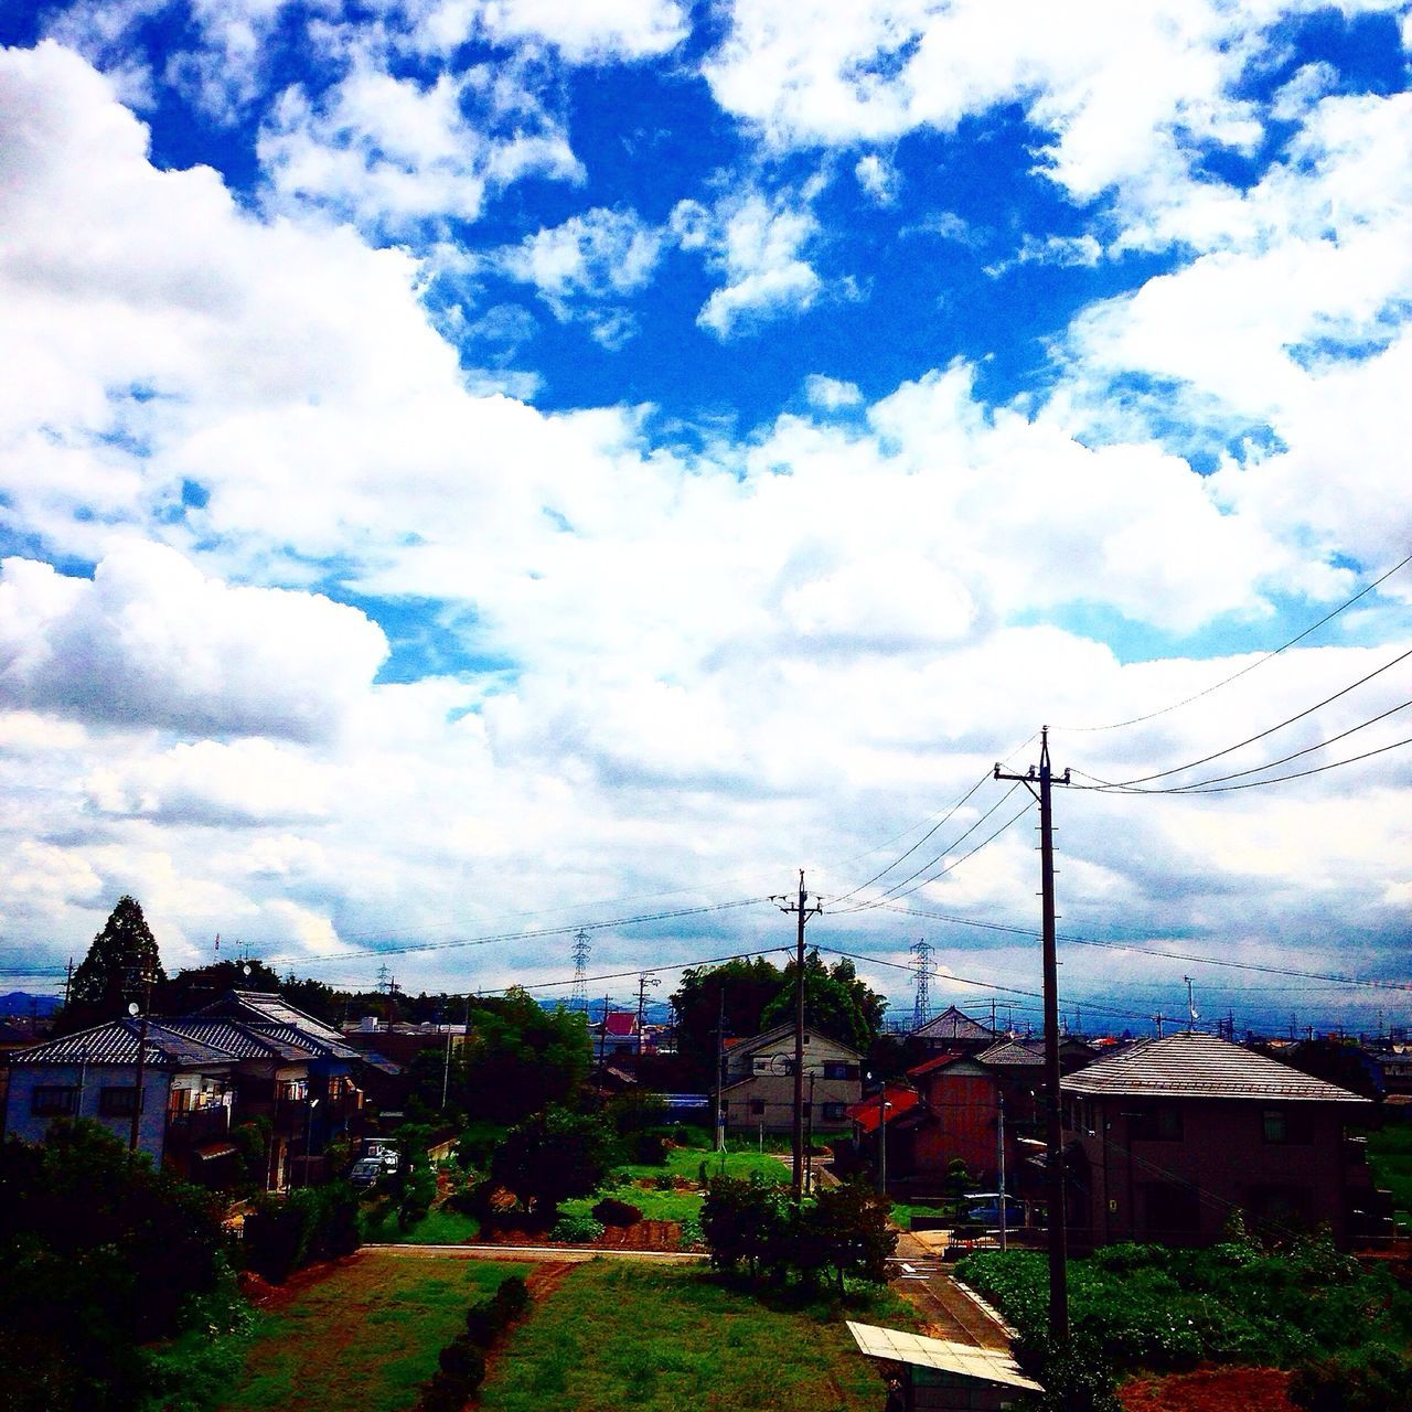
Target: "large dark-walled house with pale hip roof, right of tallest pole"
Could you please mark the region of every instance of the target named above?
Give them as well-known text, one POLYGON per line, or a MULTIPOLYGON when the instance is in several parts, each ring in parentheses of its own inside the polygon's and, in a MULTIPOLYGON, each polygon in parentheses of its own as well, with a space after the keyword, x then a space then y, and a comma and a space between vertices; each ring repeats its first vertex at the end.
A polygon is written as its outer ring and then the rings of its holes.
POLYGON ((1236 1211, 1275 1231, 1378 1234, 1381 1197, 1344 1125, 1372 1104, 1213 1035, 1139 1041, 1060 1083, 1070 1241, 1204 1245, 1236 1211))

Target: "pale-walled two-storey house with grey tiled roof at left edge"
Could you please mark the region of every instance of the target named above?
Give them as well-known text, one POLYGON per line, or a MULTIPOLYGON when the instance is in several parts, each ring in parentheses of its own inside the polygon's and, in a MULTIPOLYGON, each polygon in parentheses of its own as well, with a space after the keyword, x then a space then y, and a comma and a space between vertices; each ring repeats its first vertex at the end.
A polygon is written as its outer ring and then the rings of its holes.
POLYGON ((230 1141, 234 1055, 161 1021, 124 1017, 8 1056, 4 1131, 40 1142, 55 1118, 92 1118, 188 1180, 225 1186, 237 1171, 230 1141))

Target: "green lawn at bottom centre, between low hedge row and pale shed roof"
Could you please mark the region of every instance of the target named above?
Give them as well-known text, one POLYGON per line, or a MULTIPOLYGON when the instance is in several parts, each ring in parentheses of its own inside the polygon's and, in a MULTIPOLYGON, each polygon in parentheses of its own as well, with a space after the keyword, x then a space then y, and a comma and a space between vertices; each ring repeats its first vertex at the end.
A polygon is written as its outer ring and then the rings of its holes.
POLYGON ((840 1313, 767 1306, 685 1267, 578 1265, 517 1327, 483 1412, 875 1412, 882 1387, 844 1317, 916 1327, 888 1291, 840 1313))

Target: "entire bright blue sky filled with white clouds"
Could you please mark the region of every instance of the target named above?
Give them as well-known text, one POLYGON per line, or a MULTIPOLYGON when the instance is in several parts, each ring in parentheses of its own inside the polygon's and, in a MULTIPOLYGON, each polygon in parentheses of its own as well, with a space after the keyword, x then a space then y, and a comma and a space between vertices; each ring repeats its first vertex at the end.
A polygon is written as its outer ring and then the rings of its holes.
POLYGON ((1409 8, 10 0, 4 984, 1412 1024, 1409 8))

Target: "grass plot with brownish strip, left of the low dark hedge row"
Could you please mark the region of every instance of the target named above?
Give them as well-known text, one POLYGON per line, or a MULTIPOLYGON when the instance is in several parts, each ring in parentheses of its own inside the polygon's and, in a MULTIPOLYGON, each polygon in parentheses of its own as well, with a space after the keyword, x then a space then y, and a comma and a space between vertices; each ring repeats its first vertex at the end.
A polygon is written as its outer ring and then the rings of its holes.
POLYGON ((220 1412, 407 1412, 466 1308, 527 1268, 363 1251, 261 1316, 220 1412))

